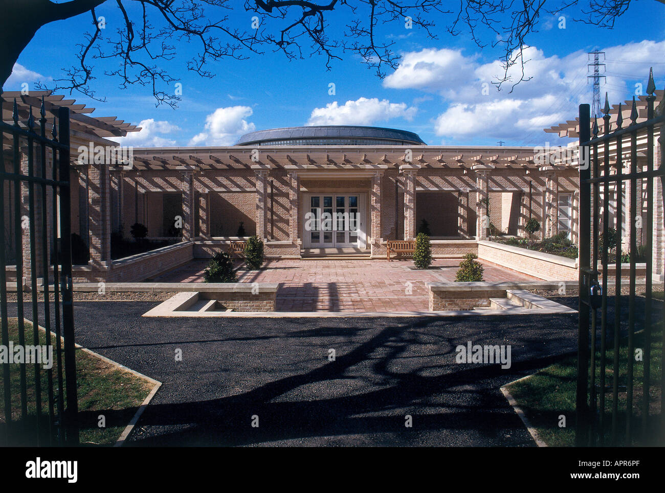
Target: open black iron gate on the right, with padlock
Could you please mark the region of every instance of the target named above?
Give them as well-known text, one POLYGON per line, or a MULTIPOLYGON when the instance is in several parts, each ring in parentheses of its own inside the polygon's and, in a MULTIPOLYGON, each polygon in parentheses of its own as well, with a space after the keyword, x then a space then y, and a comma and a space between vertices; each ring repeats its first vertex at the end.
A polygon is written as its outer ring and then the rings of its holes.
MULTIPOLYGON (((652 278, 654 182, 662 183, 665 175, 662 164, 654 169, 658 152, 654 135, 662 135, 665 116, 654 114, 652 73, 647 93, 646 120, 638 123, 644 116, 640 117, 633 98, 625 127, 621 105, 610 124, 605 96, 602 134, 597 117, 591 122, 589 104, 579 107, 578 446, 662 444, 665 431, 663 393, 658 397, 658 389, 665 388, 665 331, 662 302, 653 296, 652 278), (638 148, 643 150, 638 153, 638 148), (625 211, 624 201, 630 203, 625 211), (622 230, 628 237, 627 252, 622 252, 622 230), (636 294, 638 260, 646 264, 643 298, 636 294), (629 264, 623 279, 622 264, 629 264), (626 274, 628 286, 622 286, 626 274), (660 346, 661 356, 654 361, 652 348, 656 346, 660 346), (658 367, 660 375, 652 371, 658 367)), ((639 287, 641 292, 641 282, 639 287)))

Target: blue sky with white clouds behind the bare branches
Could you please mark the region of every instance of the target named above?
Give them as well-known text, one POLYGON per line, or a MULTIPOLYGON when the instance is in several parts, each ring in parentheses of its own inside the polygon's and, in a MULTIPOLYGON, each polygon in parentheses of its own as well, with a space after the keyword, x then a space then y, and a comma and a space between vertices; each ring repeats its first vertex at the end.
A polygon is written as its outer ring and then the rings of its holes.
MULTIPOLYGON (((237 2, 241 4, 240 2, 237 2)), ((115 2, 97 9, 106 17, 104 35, 114 36, 120 22, 115 2)), ((237 9, 231 25, 245 27, 251 14, 237 9)), ((121 90, 118 80, 104 76, 117 66, 112 60, 93 60, 92 82, 106 102, 90 100, 74 92, 73 98, 97 108, 93 116, 118 116, 144 127, 124 144, 134 146, 230 145, 251 130, 307 124, 360 124, 402 128, 418 133, 430 145, 542 146, 563 144, 546 126, 575 118, 577 105, 591 102, 587 82, 587 51, 606 51, 606 83, 610 102, 630 99, 641 82, 646 87, 648 67, 654 67, 656 85, 665 84, 665 5, 653 0, 634 2, 613 30, 575 23, 567 15, 565 29, 557 18, 545 16, 540 31, 530 39, 527 53, 528 82, 513 93, 509 86, 497 92, 492 80, 499 75, 499 50, 478 49, 466 33, 452 37, 445 31, 450 17, 432 16, 438 40, 423 31, 404 29, 402 23, 382 26, 380 35, 394 40, 402 54, 397 70, 381 80, 352 53, 333 60, 325 70, 323 56, 287 60, 267 49, 249 54, 248 60, 223 59, 209 64, 216 76, 201 78, 186 70, 186 61, 198 51, 196 43, 172 41, 178 55, 162 65, 182 82, 182 102, 176 110, 155 100, 148 88, 121 90), (646 21, 645 21, 646 20, 646 21), (335 94, 329 94, 329 84, 335 94), (485 84, 485 86, 483 86, 485 84), (483 94, 483 87, 489 94, 483 94)), ((348 23, 345 11, 330 17, 331 35, 348 23)), ((62 76, 61 69, 76 62, 77 43, 89 28, 90 14, 43 27, 21 54, 6 90, 33 87, 35 80, 62 76)), ((492 35, 485 32, 485 39, 492 35)), ((175 87, 164 87, 175 90, 175 87)))

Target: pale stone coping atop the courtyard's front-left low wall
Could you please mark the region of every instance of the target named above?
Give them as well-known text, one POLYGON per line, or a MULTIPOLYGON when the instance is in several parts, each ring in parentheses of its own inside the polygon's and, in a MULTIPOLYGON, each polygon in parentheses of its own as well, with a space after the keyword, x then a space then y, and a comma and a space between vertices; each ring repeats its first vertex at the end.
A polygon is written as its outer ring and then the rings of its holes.
MULTIPOLYGON (((78 282, 73 290, 96 292, 98 282, 78 282)), ((248 292, 277 293, 277 282, 106 282, 107 292, 248 292)))

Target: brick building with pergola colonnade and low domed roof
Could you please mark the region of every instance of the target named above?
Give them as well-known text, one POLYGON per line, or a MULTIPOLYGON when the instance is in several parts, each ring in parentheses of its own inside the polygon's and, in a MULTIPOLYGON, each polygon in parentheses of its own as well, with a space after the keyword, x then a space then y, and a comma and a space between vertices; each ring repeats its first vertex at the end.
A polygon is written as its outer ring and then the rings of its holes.
MULTIPOLYGON (((114 146, 114 136, 138 129, 83 118, 91 110, 67 104, 88 124, 72 133, 72 231, 90 250, 75 281, 145 280, 227 248, 240 229, 263 239, 271 258, 385 258, 387 241, 414 239, 424 222, 435 256, 479 252, 491 231, 523 237, 530 218, 541 236, 579 241, 573 147, 427 146, 402 130, 310 126, 253 132, 228 147, 134 148, 130 162, 96 162, 81 158, 88 146, 114 146), (177 243, 112 259, 112 234, 128 237, 135 223, 149 238, 177 243)), ((574 121, 548 129, 567 137, 577 130, 574 121)), ((662 216, 656 186, 654 214, 662 216)), ((654 254, 662 251, 661 216, 654 254)), ((662 255, 658 262, 662 280, 662 255)))

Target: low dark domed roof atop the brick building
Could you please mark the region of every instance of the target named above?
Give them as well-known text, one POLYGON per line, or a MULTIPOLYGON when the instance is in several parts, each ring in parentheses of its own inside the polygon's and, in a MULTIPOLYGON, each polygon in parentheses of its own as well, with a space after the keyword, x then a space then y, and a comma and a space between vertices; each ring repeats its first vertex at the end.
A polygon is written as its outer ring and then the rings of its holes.
POLYGON ((272 128, 243 135, 236 146, 424 146, 413 132, 395 128, 323 125, 272 128))

